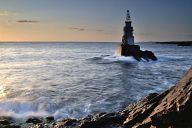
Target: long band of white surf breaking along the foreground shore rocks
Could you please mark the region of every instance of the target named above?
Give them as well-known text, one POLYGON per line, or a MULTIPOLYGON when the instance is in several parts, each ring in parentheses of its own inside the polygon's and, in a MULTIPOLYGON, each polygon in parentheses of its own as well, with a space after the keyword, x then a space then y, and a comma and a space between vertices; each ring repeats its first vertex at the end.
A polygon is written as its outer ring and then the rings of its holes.
MULTIPOLYGON (((121 105, 116 101, 116 107, 121 105)), ((0 115, 12 117, 19 120, 26 120, 29 117, 53 116, 55 120, 63 118, 82 118, 93 112, 107 111, 106 99, 98 101, 84 101, 81 103, 61 105, 51 101, 48 97, 40 97, 33 101, 20 101, 18 99, 4 99, 0 101, 0 115), (104 107, 105 106, 105 107, 104 107)))

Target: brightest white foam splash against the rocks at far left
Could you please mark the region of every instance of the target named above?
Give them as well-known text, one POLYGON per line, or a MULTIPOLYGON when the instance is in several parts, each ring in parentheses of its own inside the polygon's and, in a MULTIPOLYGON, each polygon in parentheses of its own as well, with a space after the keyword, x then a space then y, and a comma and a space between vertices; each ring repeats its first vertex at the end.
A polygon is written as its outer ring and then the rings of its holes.
POLYGON ((0 101, 0 115, 13 118, 28 118, 30 116, 46 117, 51 115, 47 111, 49 103, 42 97, 35 101, 18 101, 16 99, 4 99, 0 101))

